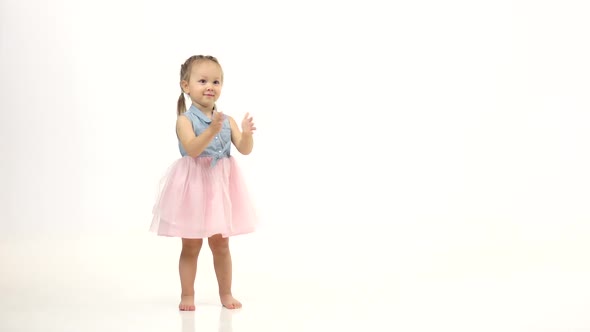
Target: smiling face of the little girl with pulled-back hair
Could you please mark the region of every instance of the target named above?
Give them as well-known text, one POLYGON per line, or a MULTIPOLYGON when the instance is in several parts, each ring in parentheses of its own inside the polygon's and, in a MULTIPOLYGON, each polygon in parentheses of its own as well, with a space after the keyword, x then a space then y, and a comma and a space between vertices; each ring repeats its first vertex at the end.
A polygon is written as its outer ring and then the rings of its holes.
POLYGON ((192 65, 189 81, 182 81, 182 90, 201 111, 211 111, 221 94, 223 76, 219 65, 202 61, 192 65))

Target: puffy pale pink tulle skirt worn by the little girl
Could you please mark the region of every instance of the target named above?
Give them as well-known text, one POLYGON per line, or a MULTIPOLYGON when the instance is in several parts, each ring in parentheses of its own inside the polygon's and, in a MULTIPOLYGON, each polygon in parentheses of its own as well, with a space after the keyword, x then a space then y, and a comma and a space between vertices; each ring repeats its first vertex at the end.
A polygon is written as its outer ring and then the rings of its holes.
POLYGON ((203 239, 251 233, 257 218, 233 157, 182 157, 168 169, 150 230, 161 236, 203 239))

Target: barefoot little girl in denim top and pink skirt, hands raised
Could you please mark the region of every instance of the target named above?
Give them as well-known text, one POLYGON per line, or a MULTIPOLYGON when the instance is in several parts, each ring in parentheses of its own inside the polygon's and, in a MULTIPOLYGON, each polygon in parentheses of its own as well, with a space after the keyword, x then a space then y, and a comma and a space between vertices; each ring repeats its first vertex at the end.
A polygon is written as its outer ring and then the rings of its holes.
POLYGON ((217 110, 222 86, 223 71, 212 56, 192 56, 180 67, 176 135, 182 158, 169 168, 153 209, 151 230, 182 238, 179 309, 183 311, 195 310, 197 257, 205 238, 213 253, 222 305, 242 306, 231 291, 229 237, 253 232, 256 216, 230 148, 233 143, 240 153, 249 154, 256 128, 248 113, 240 131, 231 116, 217 110), (184 94, 192 101, 188 110, 184 94))

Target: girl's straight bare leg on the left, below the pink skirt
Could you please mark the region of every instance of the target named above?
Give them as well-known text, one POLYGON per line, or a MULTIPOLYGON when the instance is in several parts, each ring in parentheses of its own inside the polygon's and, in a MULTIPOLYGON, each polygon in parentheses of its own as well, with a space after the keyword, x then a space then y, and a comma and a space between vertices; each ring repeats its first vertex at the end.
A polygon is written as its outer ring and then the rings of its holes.
POLYGON ((202 239, 182 239, 182 251, 178 262, 180 273, 180 304, 182 311, 195 310, 195 277, 197 275, 197 258, 203 245, 202 239))

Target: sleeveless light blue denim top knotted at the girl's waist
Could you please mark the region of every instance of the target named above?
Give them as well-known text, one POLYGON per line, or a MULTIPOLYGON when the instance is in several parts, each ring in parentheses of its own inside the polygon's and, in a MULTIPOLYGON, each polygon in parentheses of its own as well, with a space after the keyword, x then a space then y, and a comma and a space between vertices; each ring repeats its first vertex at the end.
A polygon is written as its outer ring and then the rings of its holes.
MULTIPOLYGON (((205 129, 211 124, 209 119, 201 110, 196 108, 194 105, 183 114, 193 124, 195 135, 200 135, 205 129)), ((180 154, 184 157, 187 156, 187 152, 182 146, 180 140, 178 141, 178 147, 180 154)), ((231 150, 231 127, 229 125, 229 119, 223 121, 221 131, 213 138, 211 143, 205 148, 205 150, 199 155, 199 157, 212 157, 211 167, 215 166, 217 161, 223 157, 229 157, 231 150)))

